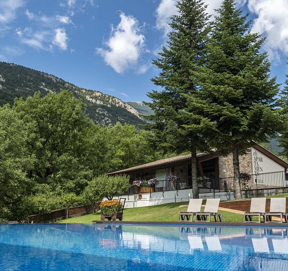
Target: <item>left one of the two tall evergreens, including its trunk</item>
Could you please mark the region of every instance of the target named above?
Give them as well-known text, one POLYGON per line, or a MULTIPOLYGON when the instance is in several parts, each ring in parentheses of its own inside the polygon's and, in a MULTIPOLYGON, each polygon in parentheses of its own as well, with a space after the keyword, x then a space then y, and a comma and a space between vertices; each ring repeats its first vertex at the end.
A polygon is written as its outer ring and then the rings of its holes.
POLYGON ((201 116, 193 71, 205 63, 209 16, 202 0, 177 2, 178 15, 171 18, 167 45, 153 63, 161 71, 152 79, 163 90, 148 94, 154 111, 148 119, 156 144, 168 151, 191 152, 193 197, 198 198, 197 150, 208 149, 206 134, 213 123, 201 116))

